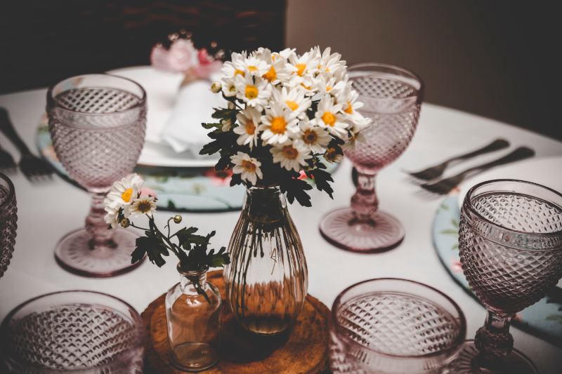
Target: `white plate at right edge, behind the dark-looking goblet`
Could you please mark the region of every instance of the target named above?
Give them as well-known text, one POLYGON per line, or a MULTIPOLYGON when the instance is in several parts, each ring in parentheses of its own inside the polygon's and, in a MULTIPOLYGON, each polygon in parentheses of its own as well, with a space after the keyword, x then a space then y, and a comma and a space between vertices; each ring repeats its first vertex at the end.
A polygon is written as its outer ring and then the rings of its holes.
POLYGON ((462 201, 464 200, 464 196, 466 196, 466 192, 469 192, 469 189, 471 189, 473 185, 494 179, 525 180, 562 193, 562 157, 528 159, 503 167, 492 168, 489 171, 475 175, 473 178, 462 182, 459 186, 461 190, 459 194, 459 206, 462 206, 462 201))

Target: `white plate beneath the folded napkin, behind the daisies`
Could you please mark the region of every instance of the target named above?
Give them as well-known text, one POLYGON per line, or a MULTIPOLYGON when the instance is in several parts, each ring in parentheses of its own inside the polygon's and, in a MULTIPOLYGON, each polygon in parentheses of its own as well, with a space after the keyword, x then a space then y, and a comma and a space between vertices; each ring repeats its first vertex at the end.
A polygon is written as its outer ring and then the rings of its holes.
MULTIPOLYGON (((176 153, 162 141, 160 133, 168 122, 183 74, 159 72, 149 67, 125 67, 108 72, 124 76, 143 86, 147 94, 148 112, 146 114, 145 146, 138 158, 139 165, 172 166, 181 168, 211 167, 218 156, 200 156, 190 151, 176 153)), ((210 139, 209 139, 210 140, 210 139)))

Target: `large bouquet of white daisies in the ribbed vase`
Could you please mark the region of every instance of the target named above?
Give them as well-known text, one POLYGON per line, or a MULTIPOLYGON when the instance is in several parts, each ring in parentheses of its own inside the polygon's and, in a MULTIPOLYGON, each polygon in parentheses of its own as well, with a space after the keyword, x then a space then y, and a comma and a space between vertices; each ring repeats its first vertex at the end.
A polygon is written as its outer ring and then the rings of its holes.
POLYGON ((279 186, 292 203, 311 206, 306 175, 332 196, 332 176, 320 157, 339 162, 355 149, 370 119, 351 88, 339 53, 316 47, 303 55, 294 49, 272 53, 259 48, 232 53, 211 91, 228 107, 216 108, 217 123, 203 123, 209 142, 200 154, 220 152, 216 171, 233 170, 230 185, 279 186))

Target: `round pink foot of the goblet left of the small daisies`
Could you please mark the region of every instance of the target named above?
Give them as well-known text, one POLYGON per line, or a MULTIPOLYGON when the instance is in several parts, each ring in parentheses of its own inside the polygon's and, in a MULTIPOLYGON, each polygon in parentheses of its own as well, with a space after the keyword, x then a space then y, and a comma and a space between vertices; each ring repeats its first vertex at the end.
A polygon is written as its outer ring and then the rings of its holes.
MULTIPOLYGON (((69 272, 93 277, 115 276, 130 272, 142 261, 131 264, 138 235, 125 229, 113 229, 113 238, 107 245, 93 243, 86 229, 77 229, 60 239, 55 248, 58 264, 69 272)), ((146 258, 146 256, 145 256, 146 258)))

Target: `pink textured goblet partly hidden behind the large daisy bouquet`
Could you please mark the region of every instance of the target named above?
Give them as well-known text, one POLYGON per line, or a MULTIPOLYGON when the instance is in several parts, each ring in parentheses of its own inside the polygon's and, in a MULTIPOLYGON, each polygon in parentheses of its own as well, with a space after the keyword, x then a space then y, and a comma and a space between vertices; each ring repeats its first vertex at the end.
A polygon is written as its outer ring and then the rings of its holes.
POLYGON ((362 131, 366 141, 356 142, 355 151, 344 152, 358 171, 351 208, 328 213, 320 222, 320 232, 331 243, 350 251, 382 251, 398 245, 405 230, 395 217, 378 211, 374 182, 381 168, 410 144, 424 83, 406 69, 374 63, 353 65, 348 75, 364 104, 359 112, 372 123, 362 131))

